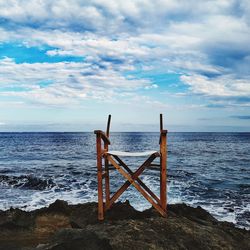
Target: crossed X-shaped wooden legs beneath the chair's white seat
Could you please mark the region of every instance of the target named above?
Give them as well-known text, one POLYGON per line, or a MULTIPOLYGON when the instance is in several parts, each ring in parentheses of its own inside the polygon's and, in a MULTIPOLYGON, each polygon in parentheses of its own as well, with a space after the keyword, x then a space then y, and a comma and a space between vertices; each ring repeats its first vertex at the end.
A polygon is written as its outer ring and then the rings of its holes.
POLYGON ((127 179, 127 181, 111 197, 108 206, 106 206, 106 210, 110 208, 110 206, 130 185, 133 185, 162 216, 166 216, 166 211, 162 208, 160 199, 139 178, 140 174, 142 174, 142 172, 150 166, 152 161, 159 156, 159 153, 153 153, 135 172, 133 172, 117 155, 110 155, 108 153, 104 155, 104 157, 123 175, 123 177, 127 179), (120 165, 113 159, 113 157, 120 165), (123 166, 127 172, 121 166, 123 166))

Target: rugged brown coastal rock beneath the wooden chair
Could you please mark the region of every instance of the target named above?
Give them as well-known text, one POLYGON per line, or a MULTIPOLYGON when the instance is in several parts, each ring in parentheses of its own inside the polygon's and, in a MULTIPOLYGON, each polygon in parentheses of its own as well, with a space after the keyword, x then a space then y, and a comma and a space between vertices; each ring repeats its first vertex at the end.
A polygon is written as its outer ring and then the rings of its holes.
POLYGON ((153 209, 118 202, 97 220, 97 204, 57 200, 31 212, 0 211, 0 250, 250 249, 250 231, 219 222, 202 208, 168 206, 167 218, 153 209))

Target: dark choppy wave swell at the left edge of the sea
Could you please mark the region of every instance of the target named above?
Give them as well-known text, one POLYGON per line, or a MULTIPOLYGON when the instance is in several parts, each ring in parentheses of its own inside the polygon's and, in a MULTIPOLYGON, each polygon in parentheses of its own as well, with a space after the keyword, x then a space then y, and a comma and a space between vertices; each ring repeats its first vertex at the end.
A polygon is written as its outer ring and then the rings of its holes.
POLYGON ((50 189, 56 184, 51 180, 44 180, 32 175, 21 176, 9 176, 0 175, 0 184, 5 186, 11 186, 13 188, 33 189, 33 190, 45 190, 50 189))

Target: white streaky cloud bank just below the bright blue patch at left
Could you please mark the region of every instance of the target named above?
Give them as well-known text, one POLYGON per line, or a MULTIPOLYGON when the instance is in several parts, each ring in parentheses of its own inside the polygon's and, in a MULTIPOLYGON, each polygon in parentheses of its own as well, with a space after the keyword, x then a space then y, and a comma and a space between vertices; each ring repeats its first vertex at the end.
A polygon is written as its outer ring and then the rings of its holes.
POLYGON ((5 58, 0 60, 0 68, 2 96, 18 96, 45 104, 110 100, 120 96, 121 91, 156 87, 145 79, 126 78, 110 63, 102 67, 88 62, 16 64, 5 58), (46 84, 41 84, 44 79, 46 84))

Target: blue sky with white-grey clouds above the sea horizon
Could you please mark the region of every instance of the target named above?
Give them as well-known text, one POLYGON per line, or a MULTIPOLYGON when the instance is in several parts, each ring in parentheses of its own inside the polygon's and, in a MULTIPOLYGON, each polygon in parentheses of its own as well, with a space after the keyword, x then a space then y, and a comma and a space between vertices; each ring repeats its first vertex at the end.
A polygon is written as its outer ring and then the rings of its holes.
POLYGON ((0 0, 0 131, 250 131, 250 1, 0 0))

